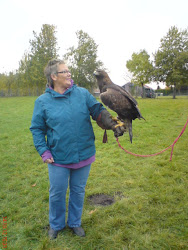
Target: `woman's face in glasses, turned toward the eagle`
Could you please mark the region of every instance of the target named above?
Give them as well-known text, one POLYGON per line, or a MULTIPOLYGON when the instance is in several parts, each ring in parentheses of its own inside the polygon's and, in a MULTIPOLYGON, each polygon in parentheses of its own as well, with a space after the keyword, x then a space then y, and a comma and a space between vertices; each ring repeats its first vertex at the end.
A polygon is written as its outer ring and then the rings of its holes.
POLYGON ((71 73, 66 66, 66 64, 58 65, 58 72, 54 79, 54 88, 59 86, 61 88, 67 89, 71 85, 71 73))

